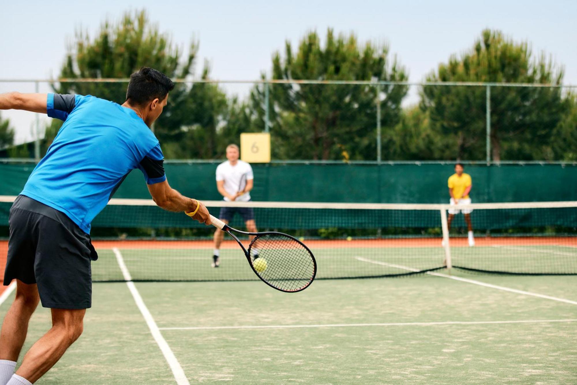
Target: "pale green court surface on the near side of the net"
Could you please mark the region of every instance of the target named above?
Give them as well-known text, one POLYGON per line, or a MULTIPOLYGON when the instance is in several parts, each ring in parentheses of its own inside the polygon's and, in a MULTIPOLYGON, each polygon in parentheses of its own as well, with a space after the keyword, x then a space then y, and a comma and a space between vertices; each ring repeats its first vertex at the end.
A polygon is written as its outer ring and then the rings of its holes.
MULTIPOLYGON (((477 283, 320 280, 295 295, 259 281, 135 285, 190 383, 577 382, 576 276, 458 277, 477 283)), ((39 309, 24 350, 49 327, 39 309)), ((177 382, 118 282, 93 285, 84 334, 37 383, 177 382)))

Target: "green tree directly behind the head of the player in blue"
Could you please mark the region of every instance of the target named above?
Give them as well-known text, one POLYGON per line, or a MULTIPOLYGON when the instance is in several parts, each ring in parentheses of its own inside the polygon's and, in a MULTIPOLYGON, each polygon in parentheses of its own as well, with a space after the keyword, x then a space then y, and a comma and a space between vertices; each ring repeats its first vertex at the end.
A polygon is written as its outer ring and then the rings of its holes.
MULTIPOLYGON (((188 56, 160 32, 144 11, 127 12, 122 20, 102 24, 96 37, 78 31, 74 46, 66 55, 60 78, 128 78, 142 66, 153 67, 171 78, 192 75, 198 42, 190 43, 188 56)), ((208 65, 203 79, 208 78, 208 65)), ((126 83, 60 82, 55 92, 93 95, 122 104, 126 83)), ((227 114, 226 95, 214 84, 178 83, 168 105, 152 127, 167 158, 212 158, 216 155, 217 131, 227 114)), ((61 122, 54 120, 46 130, 44 151, 51 144, 61 122)))

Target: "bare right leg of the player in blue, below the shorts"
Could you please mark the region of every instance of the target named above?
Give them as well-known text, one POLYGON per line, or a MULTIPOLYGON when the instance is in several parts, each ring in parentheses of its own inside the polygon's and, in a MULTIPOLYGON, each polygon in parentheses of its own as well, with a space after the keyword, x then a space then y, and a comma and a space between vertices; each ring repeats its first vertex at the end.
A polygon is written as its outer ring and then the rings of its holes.
POLYGON ((52 328, 24 356, 16 374, 34 383, 80 337, 86 309, 52 309, 52 328))

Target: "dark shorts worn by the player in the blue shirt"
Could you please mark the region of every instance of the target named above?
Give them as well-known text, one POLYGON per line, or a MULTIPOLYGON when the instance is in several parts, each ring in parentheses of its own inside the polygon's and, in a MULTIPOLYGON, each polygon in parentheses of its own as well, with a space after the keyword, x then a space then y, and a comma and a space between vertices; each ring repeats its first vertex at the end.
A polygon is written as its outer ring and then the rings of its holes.
POLYGON ((10 209, 4 285, 38 284, 43 307, 86 309, 92 303, 90 236, 66 214, 19 195, 10 209))

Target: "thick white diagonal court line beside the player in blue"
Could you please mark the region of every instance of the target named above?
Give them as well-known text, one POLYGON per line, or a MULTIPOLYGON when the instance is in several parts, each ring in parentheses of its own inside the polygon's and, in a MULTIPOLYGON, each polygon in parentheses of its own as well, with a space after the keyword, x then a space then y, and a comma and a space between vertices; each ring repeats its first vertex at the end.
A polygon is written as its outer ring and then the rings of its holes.
POLYGON ((140 296, 140 293, 138 293, 138 290, 136 289, 134 282, 132 282, 130 271, 128 271, 128 268, 124 263, 124 259, 122 258, 120 250, 118 250, 118 248, 115 247, 112 250, 114 251, 114 255, 116 256, 118 266, 122 271, 122 275, 124 279, 127 281, 126 286, 128 286, 130 293, 132 293, 134 302, 138 306, 138 309, 140 309, 140 312, 142 313, 144 320, 148 325, 148 329, 150 329, 152 337, 154 337, 156 344, 158 344, 160 351, 162 351, 164 358, 166 358, 168 366, 170 366, 171 371, 173 371, 174 379, 177 380, 178 385, 189 385, 190 383, 188 382, 188 379, 186 378, 186 375, 182 370, 181 365, 178 363, 177 357, 174 356, 174 353, 170 349, 170 346, 168 346, 166 340, 164 339, 164 337, 162 337, 162 333, 160 333, 158 325, 156 324, 154 318, 152 318, 152 314, 150 314, 150 311, 148 311, 148 308, 144 304, 143 298, 140 296))

